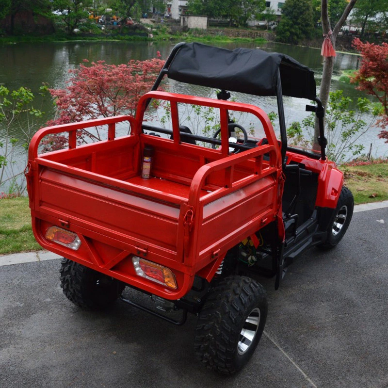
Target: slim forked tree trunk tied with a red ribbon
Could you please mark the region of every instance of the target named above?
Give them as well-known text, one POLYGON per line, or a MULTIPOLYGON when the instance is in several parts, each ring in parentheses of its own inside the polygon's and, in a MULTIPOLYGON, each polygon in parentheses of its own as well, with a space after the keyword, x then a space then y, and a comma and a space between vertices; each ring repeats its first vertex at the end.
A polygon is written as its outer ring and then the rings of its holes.
MULTIPOLYGON (((290 0, 288 0, 290 1, 290 0)), ((339 33, 339 30, 345 23, 347 17, 349 16, 350 11, 355 6, 357 0, 350 0, 342 12, 339 21, 335 24, 334 29, 332 30, 329 20, 329 12, 328 12, 328 0, 321 0, 321 20, 322 20, 322 30, 323 35, 327 36, 330 39, 333 48, 336 48, 336 40, 339 33), (331 32, 332 33, 329 33, 331 32)), ((321 88, 319 90, 319 98, 322 101, 324 109, 327 106, 327 100, 329 99, 331 78, 333 76, 333 68, 334 68, 334 58, 335 57, 324 57, 323 59, 323 72, 322 72, 322 81, 321 88)), ((315 121, 315 130, 314 130, 314 140, 313 140, 313 148, 319 150, 321 147, 318 144, 319 137, 319 126, 318 119, 315 121)))

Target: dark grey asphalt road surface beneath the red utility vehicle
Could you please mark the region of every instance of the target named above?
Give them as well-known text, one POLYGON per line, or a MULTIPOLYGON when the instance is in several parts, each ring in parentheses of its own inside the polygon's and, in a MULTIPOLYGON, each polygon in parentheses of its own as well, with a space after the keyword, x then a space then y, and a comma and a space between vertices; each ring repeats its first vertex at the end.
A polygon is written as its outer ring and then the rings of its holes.
POLYGON ((232 377, 195 360, 194 316, 175 327, 122 302, 83 311, 62 294, 58 259, 0 266, 0 387, 387 388, 387 226, 388 208, 357 212, 279 291, 264 280, 265 334, 232 377))

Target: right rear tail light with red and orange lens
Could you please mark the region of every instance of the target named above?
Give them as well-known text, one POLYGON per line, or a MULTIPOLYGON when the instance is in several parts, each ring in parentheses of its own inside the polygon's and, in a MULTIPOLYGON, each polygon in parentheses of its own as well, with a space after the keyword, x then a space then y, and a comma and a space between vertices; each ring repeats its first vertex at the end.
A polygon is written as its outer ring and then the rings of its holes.
POLYGON ((145 277, 146 279, 162 284, 173 290, 178 288, 175 275, 169 268, 155 264, 152 261, 138 258, 137 256, 132 258, 132 262, 135 267, 136 275, 145 277))

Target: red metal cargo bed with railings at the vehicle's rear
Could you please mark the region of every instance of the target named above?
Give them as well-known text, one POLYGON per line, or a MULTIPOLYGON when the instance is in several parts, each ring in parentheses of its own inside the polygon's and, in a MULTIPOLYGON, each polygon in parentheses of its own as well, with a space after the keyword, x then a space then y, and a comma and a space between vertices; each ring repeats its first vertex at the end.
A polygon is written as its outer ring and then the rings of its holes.
POLYGON ((194 275, 210 278, 226 251, 274 220, 280 151, 270 122, 259 108, 152 92, 139 102, 136 119, 117 116, 41 129, 29 153, 28 190, 33 231, 45 248, 62 254, 132 286, 167 299, 177 299, 192 286, 194 275), (224 134, 226 109, 256 114, 268 145, 241 153, 181 143, 174 124, 174 140, 142 133, 149 97, 172 105, 191 102, 221 111, 224 134), (131 134, 115 138, 115 124, 129 121, 131 134), (76 131, 108 126, 108 140, 77 146, 76 131), (37 155, 42 138, 69 133, 68 149, 37 155), (145 146, 154 149, 151 178, 140 176, 145 146), (269 160, 264 160, 264 154, 269 160), (77 233, 77 251, 45 239, 50 226, 77 233), (136 275, 133 255, 170 268, 178 289, 169 290, 136 275))

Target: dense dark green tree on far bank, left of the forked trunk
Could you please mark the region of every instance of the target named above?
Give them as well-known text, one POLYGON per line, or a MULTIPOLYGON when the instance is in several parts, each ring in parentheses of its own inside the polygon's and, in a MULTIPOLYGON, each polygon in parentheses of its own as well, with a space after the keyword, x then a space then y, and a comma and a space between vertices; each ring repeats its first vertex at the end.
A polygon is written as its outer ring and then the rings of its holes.
POLYGON ((280 42, 297 45, 311 38, 314 32, 311 0, 287 0, 282 8, 282 18, 276 29, 280 42))

